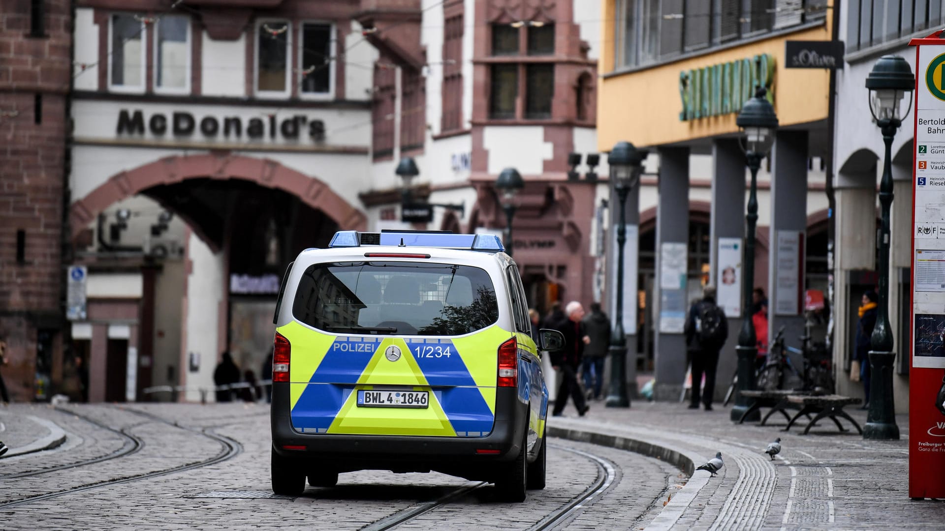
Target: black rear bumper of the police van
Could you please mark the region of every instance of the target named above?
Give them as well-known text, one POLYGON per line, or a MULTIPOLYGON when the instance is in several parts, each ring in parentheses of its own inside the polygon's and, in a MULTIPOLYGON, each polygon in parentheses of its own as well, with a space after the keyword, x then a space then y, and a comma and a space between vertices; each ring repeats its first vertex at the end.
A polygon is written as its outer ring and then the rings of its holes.
POLYGON ((517 457, 528 426, 528 404, 519 399, 514 387, 496 389, 495 422, 486 437, 301 434, 292 428, 289 403, 289 385, 273 384, 273 450, 284 459, 299 461, 300 466, 321 470, 435 470, 471 477, 476 475, 475 467, 486 472, 490 463, 517 457), (286 450, 286 446, 304 449, 286 450), (483 450, 497 453, 477 453, 483 450), (457 473, 457 469, 473 473, 457 473))

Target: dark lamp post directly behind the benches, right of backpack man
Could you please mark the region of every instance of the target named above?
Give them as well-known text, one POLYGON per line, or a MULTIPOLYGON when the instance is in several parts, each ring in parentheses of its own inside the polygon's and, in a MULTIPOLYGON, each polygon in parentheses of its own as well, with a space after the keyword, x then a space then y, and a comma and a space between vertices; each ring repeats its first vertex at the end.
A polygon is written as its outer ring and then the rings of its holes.
MULTIPOLYGON (((755 388, 755 357, 758 355, 758 338, 751 322, 751 292, 755 285, 755 227, 758 223, 758 169, 771 146, 778 128, 778 115, 765 97, 764 87, 755 92, 755 96, 745 102, 738 113, 735 124, 742 129, 741 146, 745 150, 748 170, 751 171, 751 188, 748 192, 748 207, 745 220, 745 254, 742 264, 745 275, 742 279, 742 330, 738 333, 738 385, 735 405, 731 408, 731 420, 741 420, 751 407, 751 401, 742 396, 742 391, 755 388)), ((694 384, 695 385, 695 384, 694 384)), ((745 420, 759 420, 761 415, 755 411, 745 420)))

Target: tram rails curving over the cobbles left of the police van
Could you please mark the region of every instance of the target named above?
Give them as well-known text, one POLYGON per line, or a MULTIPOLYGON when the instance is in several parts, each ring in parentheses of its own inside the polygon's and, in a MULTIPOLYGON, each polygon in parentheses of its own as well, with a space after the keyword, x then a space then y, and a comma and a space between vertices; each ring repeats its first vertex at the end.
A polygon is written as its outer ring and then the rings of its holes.
MULTIPOLYGON (((150 478, 154 478, 154 477, 161 477, 161 476, 164 476, 164 475, 169 475, 169 474, 177 473, 177 472, 181 472, 181 471, 190 471, 190 470, 194 470, 194 469, 198 469, 198 468, 202 468, 202 467, 208 467, 208 466, 211 466, 211 465, 215 465, 216 463, 220 463, 220 462, 223 462, 223 461, 227 461, 227 460, 229 460, 229 459, 232 459, 233 457, 235 457, 236 455, 242 453, 242 451, 243 451, 243 445, 240 444, 239 442, 237 442, 236 440, 234 440, 234 439, 232 439, 232 438, 230 438, 230 437, 226 437, 226 436, 222 436, 222 435, 216 434, 214 431, 212 431, 212 430, 210 430, 210 429, 207 429, 207 428, 204 428, 204 429, 197 429, 197 428, 190 428, 190 427, 187 427, 187 426, 182 426, 182 425, 178 424, 177 422, 172 422, 172 421, 170 421, 170 420, 165 420, 165 419, 163 419, 163 418, 161 418, 161 417, 158 417, 158 416, 156 416, 156 415, 152 415, 152 414, 147 413, 147 412, 145 412, 145 411, 139 411, 139 410, 133 409, 133 408, 117 407, 116 409, 119 409, 119 410, 122 410, 122 411, 128 411, 128 412, 131 413, 131 414, 138 415, 138 416, 144 417, 144 418, 146 418, 146 419, 150 419, 150 420, 153 420, 153 421, 156 421, 156 422, 160 422, 160 423, 163 423, 163 424, 167 424, 167 425, 169 425, 169 426, 175 426, 175 427, 178 427, 178 428, 180 428, 180 429, 182 429, 182 430, 186 430, 186 431, 195 433, 195 434, 197 434, 197 435, 199 435, 199 436, 201 436, 201 437, 210 438, 211 440, 214 440, 215 442, 218 442, 218 443, 221 445, 220 452, 217 453, 217 454, 215 454, 213 457, 210 457, 210 458, 208 458, 208 459, 203 459, 203 460, 198 461, 198 462, 196 462, 196 463, 188 463, 188 464, 185 464, 185 465, 179 465, 179 466, 177 466, 177 467, 171 467, 171 468, 169 468, 169 469, 163 469, 163 470, 160 470, 160 471, 143 472, 143 473, 131 475, 131 476, 128 476, 128 477, 123 477, 123 478, 117 478, 117 479, 112 479, 112 480, 101 481, 101 482, 93 483, 93 484, 90 484, 90 485, 84 485, 84 486, 77 487, 77 488, 66 488, 66 489, 62 489, 62 490, 56 491, 56 492, 49 492, 49 493, 40 494, 40 495, 37 495, 37 496, 30 496, 30 497, 24 498, 24 499, 22 499, 22 500, 17 500, 17 501, 14 501, 14 502, 8 502, 8 503, 6 503, 6 504, 0 504, 0 509, 16 507, 16 506, 18 506, 18 505, 27 505, 27 504, 32 504, 32 503, 36 503, 36 502, 42 502, 42 501, 45 501, 45 500, 50 500, 50 499, 54 499, 54 498, 59 498, 60 496, 67 496, 67 495, 70 495, 70 494, 77 494, 77 493, 79 493, 79 492, 85 492, 85 491, 87 491, 87 490, 92 490, 92 489, 94 489, 94 488, 104 488, 104 487, 110 487, 110 486, 113 486, 113 485, 122 485, 122 484, 126 484, 126 483, 131 483, 131 482, 134 482, 134 481, 140 481, 140 480, 150 479, 150 478)), ((63 410, 63 411, 68 411, 68 410, 63 410)), ((71 411, 70 411, 70 413, 71 413, 71 411)), ((111 431, 115 431, 115 430, 112 429, 112 428, 109 428, 109 429, 110 429, 111 431)), ((140 450, 141 448, 144 447, 144 441, 141 440, 140 438, 134 437, 134 436, 130 436, 129 434, 123 434, 123 435, 128 436, 128 437, 132 437, 132 438, 136 438, 136 439, 139 441, 139 446, 137 446, 135 452, 137 452, 138 450, 140 450)), ((133 452, 129 452, 129 453, 122 454, 122 455, 109 454, 109 455, 105 455, 105 456, 102 456, 102 457, 100 457, 100 458, 97 458, 98 460, 97 460, 97 461, 94 461, 94 462, 101 462, 101 461, 105 461, 105 460, 109 460, 109 459, 114 459, 114 458, 117 457, 117 456, 128 455, 128 454, 131 454, 131 453, 133 453, 133 452)), ((89 461, 93 461, 93 460, 89 460, 89 461)), ((89 464, 89 463, 87 463, 87 462, 81 462, 81 463, 82 463, 82 465, 89 464)), ((77 465, 77 464, 75 464, 75 463, 72 464, 72 465, 63 465, 63 466, 62 466, 61 468, 59 468, 58 470, 62 470, 63 468, 66 468, 66 469, 67 469, 67 468, 74 468, 74 467, 76 467, 76 466, 82 466, 82 465, 77 465)), ((39 473, 45 473, 46 471, 52 471, 52 469, 48 469, 48 470, 44 470, 44 471, 37 471, 37 472, 39 472, 39 473)), ((36 475, 36 474, 27 474, 27 475, 36 475)), ((21 475, 21 476, 18 476, 18 477, 25 477, 25 476, 22 476, 22 475, 21 475)))

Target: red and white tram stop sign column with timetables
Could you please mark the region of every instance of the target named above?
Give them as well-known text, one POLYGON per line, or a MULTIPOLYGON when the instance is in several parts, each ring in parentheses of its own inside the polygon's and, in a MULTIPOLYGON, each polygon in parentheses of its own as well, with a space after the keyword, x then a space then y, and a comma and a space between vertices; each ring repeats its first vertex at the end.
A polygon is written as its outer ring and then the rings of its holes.
POLYGON ((916 39, 909 497, 945 497, 945 45, 916 39))

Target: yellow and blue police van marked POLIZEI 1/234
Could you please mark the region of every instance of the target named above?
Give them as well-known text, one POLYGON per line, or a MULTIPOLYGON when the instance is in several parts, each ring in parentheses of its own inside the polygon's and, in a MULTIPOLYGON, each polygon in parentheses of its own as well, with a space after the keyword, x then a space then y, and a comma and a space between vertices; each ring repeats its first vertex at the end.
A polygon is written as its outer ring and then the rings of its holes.
POLYGON ((518 268, 493 234, 339 231, 276 302, 272 490, 439 471, 524 501, 544 488, 548 389, 518 268))

